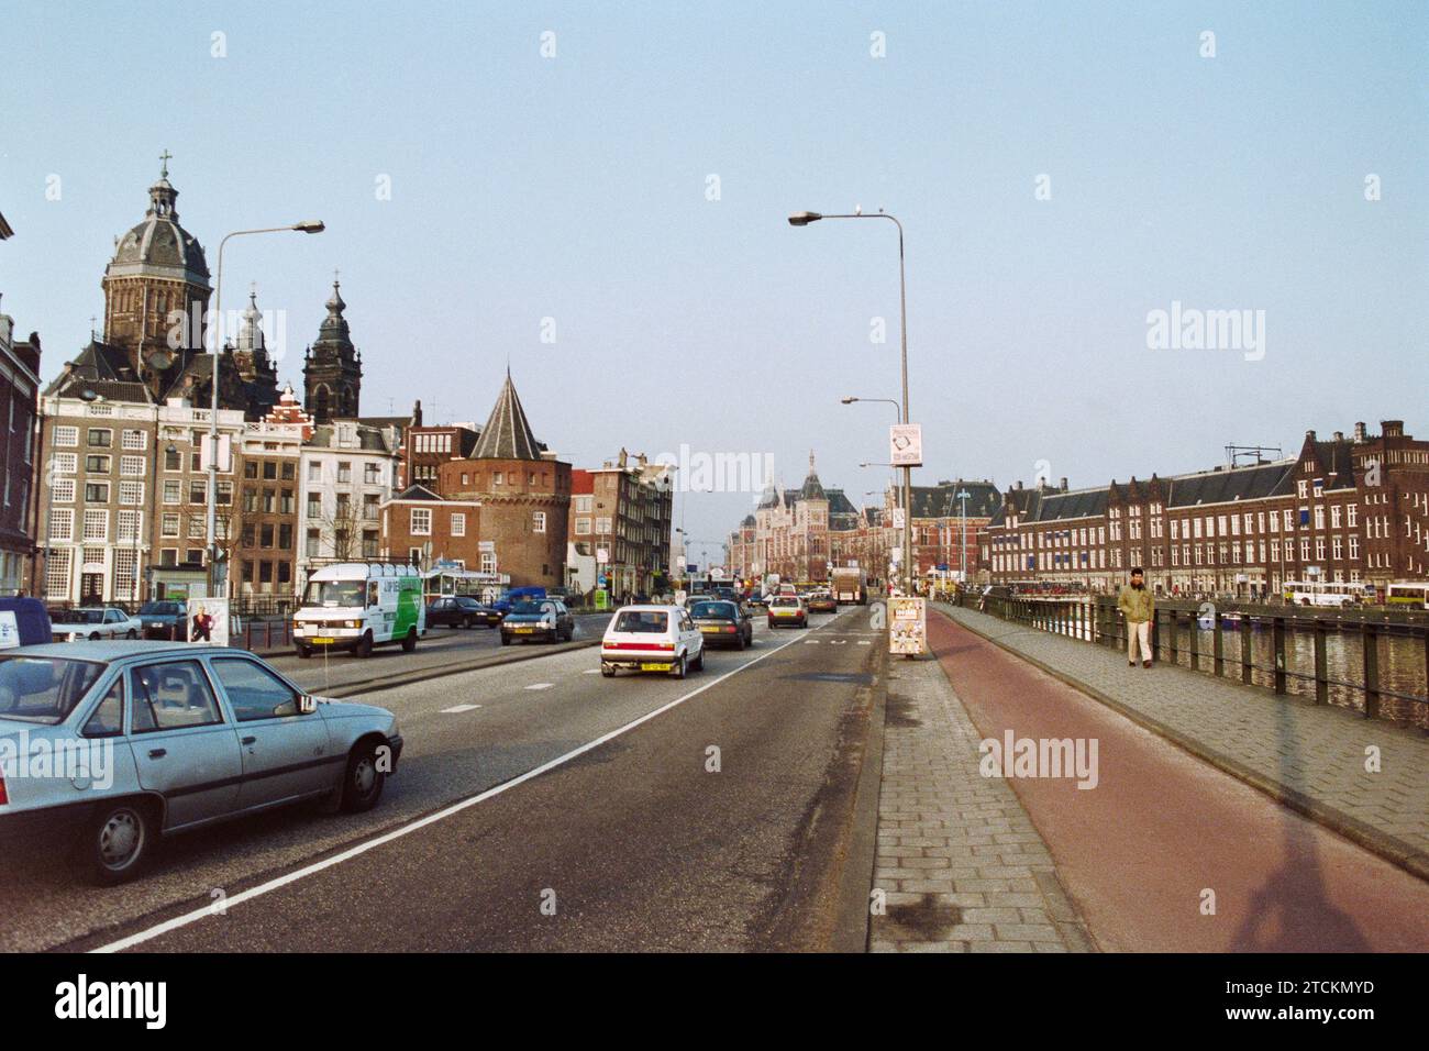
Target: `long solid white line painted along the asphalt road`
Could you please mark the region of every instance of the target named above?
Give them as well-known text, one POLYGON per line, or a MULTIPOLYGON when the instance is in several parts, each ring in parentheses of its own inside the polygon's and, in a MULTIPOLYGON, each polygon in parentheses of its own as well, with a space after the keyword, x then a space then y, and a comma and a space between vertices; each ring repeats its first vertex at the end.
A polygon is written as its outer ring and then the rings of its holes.
MULTIPOLYGON (((825 625, 819 625, 819 628, 813 628, 813 631, 820 631, 823 626, 825 625)), ((419 818, 419 819, 416 819, 416 821, 413 821, 410 824, 399 825, 397 828, 392 829, 390 832, 383 832, 382 835, 376 837, 374 839, 367 839, 366 842, 360 842, 356 847, 350 847, 346 851, 342 851, 340 854, 334 854, 330 858, 324 858, 323 861, 314 861, 312 865, 304 865, 303 868, 294 869, 293 872, 289 872, 287 875, 282 875, 282 877, 277 877, 274 879, 269 879, 266 884, 259 884, 257 887, 250 887, 247 891, 239 891, 237 894, 230 895, 229 898, 224 899, 224 912, 227 912, 227 909, 231 909, 236 905, 242 905, 246 901, 252 901, 254 898, 262 898, 263 895, 267 895, 267 894, 272 894, 273 891, 282 889, 282 888, 287 887, 289 884, 296 884, 299 879, 306 879, 307 877, 317 875, 319 872, 323 872, 323 871, 326 871, 329 868, 333 868, 334 865, 340 865, 344 861, 350 861, 353 858, 357 858, 357 857, 366 854, 367 851, 373 851, 373 849, 376 849, 379 847, 384 847, 386 844, 390 844, 390 842, 393 842, 396 839, 402 839, 403 837, 410 835, 412 832, 417 832, 417 831, 426 828, 427 825, 434 825, 439 821, 446 821, 447 818, 450 818, 450 816, 453 816, 456 814, 460 814, 462 811, 464 811, 464 809, 467 809, 470 806, 474 806, 479 802, 486 802, 487 799, 492 799, 492 798, 500 795, 502 792, 506 792, 506 791, 509 791, 512 788, 516 788, 517 785, 522 785, 522 784, 524 784, 527 781, 539 778, 542 774, 546 774, 547 771, 553 771, 557 766, 563 766, 567 762, 570 762, 572 759, 576 759, 576 758, 584 755, 586 752, 599 748, 600 745, 606 744, 607 741, 614 741, 617 736, 630 732, 636 726, 640 726, 640 725, 649 722, 650 719, 653 719, 653 718, 656 718, 659 715, 664 715, 672 708, 677 708, 677 706, 683 705, 690 698, 699 696, 706 689, 717 686, 719 684, 725 682, 725 679, 729 679, 729 678, 732 678, 735 675, 739 675, 746 668, 752 668, 753 665, 756 665, 760 661, 763 661, 766 656, 773 656, 779 651, 787 649, 789 646, 795 645, 799 641, 800 639, 797 639, 797 638, 789 639, 789 642, 783 642, 783 643, 775 646, 773 649, 770 649, 770 651, 767 651, 765 653, 760 653, 759 656, 750 658, 749 661, 746 661, 745 663, 742 663, 739 668, 732 668, 730 671, 725 672, 719 678, 710 679, 709 682, 702 684, 700 686, 696 686, 689 694, 684 694, 683 696, 677 696, 674 701, 670 701, 669 704, 660 705, 659 708, 656 708, 656 709, 653 709, 650 712, 646 712, 640 718, 632 719, 630 722, 627 722, 623 726, 617 726, 616 729, 610 731, 609 734, 602 734, 596 739, 587 741, 586 744, 580 745, 579 748, 573 748, 572 751, 566 752, 564 755, 557 755, 554 759, 549 759, 547 762, 543 762, 540 766, 534 766, 534 768, 526 771, 524 774, 519 774, 514 778, 512 778, 510 781, 503 781, 502 784, 493 785, 492 788, 487 788, 487 789, 484 789, 482 792, 477 792, 476 795, 467 796, 466 799, 457 799, 454 804, 450 804, 450 805, 442 808, 436 814, 429 814, 427 816, 419 818)), ((190 924, 196 924, 197 921, 200 921, 200 919, 203 919, 206 917, 211 917, 211 915, 214 915, 213 905, 211 904, 206 904, 206 905, 203 905, 200 908, 193 909, 191 912, 184 912, 183 915, 173 917, 171 919, 166 919, 161 924, 156 924, 154 927, 150 927, 149 929, 139 931, 137 934, 131 934, 131 935, 129 935, 126 938, 120 938, 117 941, 111 941, 107 945, 100 945, 96 949, 90 949, 90 952, 96 952, 96 954, 123 952, 124 949, 133 948, 134 945, 143 945, 147 941, 153 941, 154 938, 159 938, 159 937, 161 937, 164 934, 169 934, 171 931, 177 931, 177 929, 180 929, 183 927, 189 927, 190 924)))

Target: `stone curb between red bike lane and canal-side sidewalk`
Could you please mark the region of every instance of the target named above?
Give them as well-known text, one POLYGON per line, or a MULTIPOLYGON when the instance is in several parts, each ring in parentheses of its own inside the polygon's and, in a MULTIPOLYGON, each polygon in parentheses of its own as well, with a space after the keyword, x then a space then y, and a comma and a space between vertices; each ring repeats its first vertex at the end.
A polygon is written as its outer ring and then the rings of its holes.
POLYGON ((1390 835, 1385 835, 1378 828, 1366 825, 1363 821, 1352 818, 1350 815, 1345 814, 1343 811, 1335 806, 1329 806, 1328 804, 1313 799, 1305 795, 1303 792, 1276 781, 1275 778, 1268 778, 1265 774, 1260 774, 1259 771, 1246 766, 1239 759, 1233 759, 1232 756, 1219 752, 1215 748, 1210 748, 1209 745, 1198 741, 1196 738, 1187 734, 1183 734, 1175 726, 1167 726, 1159 719, 1153 719, 1152 716, 1145 715, 1143 712, 1139 712, 1135 708, 1129 708, 1120 701, 1107 696, 1096 686, 1087 685, 1086 682, 1082 682, 1080 679, 1076 679, 1047 663, 1043 663, 1042 661, 1037 661, 1033 656, 1027 656, 1026 653, 1022 653, 1013 649, 1012 646, 995 639, 986 632, 979 631, 972 625, 963 623, 962 621, 957 621, 953 616, 949 616, 942 609, 936 612, 939 616, 946 618, 949 622, 957 625, 959 628, 970 631, 973 635, 986 639, 987 642, 993 643, 999 649, 1012 653, 1020 661, 1026 661, 1033 668, 1046 672, 1059 682, 1072 686, 1080 694, 1086 694, 1093 701, 1106 705, 1113 712, 1135 722, 1137 726, 1149 729, 1152 734, 1165 738, 1177 748, 1190 752, 1198 759, 1209 762, 1216 769, 1223 771, 1225 774, 1229 774, 1238 781, 1243 781, 1245 784, 1250 785, 1250 788, 1265 792, 1276 802, 1289 806, 1292 811, 1309 818, 1310 821, 1315 821, 1316 824, 1323 825, 1332 832, 1338 832, 1346 839, 1359 844, 1365 849, 1378 854, 1385 861, 1398 865, 1410 875, 1419 877, 1420 879, 1429 882, 1429 854, 1415 849, 1402 839, 1395 839, 1390 835))

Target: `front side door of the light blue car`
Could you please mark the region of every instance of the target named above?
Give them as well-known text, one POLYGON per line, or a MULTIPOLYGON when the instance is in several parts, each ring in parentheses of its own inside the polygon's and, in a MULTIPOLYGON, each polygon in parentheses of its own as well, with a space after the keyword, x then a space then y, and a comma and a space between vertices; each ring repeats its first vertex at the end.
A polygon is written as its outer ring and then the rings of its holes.
POLYGON ((299 712, 299 691, 247 656, 209 659, 233 712, 243 758, 239 809, 296 799, 334 782, 327 725, 299 712))

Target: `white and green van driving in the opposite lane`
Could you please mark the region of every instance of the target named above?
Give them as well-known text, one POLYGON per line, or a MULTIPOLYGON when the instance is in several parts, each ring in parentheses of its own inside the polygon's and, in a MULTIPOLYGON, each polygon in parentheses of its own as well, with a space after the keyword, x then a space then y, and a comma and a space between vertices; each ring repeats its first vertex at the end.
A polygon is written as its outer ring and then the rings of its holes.
POLYGON ((417 648, 427 633, 422 571, 384 562, 339 562, 307 578, 293 613, 293 649, 303 659, 314 649, 346 649, 370 656, 373 646, 417 648))

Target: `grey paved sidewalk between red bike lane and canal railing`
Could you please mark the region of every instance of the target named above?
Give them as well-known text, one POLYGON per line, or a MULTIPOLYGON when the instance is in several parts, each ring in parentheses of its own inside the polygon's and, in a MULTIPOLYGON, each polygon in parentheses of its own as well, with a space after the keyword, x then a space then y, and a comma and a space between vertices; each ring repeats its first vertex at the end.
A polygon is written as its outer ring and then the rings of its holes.
POLYGON ((937 611, 1193 755, 1429 879, 1429 738, 1340 708, 1270 696, 1119 651, 999 621, 937 611), (1365 769, 1366 748, 1380 772, 1365 769))

